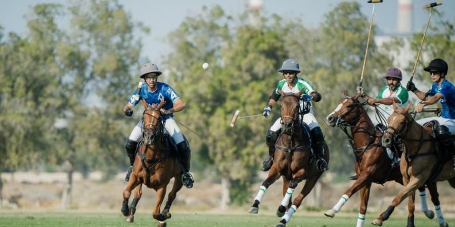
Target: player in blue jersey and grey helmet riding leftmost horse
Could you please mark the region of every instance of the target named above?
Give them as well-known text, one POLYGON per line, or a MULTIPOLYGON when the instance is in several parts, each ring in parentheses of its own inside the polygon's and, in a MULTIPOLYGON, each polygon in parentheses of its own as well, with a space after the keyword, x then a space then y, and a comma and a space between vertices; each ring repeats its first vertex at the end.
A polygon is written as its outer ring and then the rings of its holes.
MULTIPOLYGON (((185 172, 183 175, 184 179, 183 183, 185 187, 192 188, 193 187, 193 177, 189 173, 190 171, 190 158, 191 158, 191 150, 187 142, 184 140, 184 136, 181 133, 180 129, 178 128, 176 122, 172 119, 173 113, 184 110, 186 104, 178 94, 174 91, 174 89, 165 84, 158 82, 158 76, 161 75, 161 71, 157 65, 153 63, 147 63, 141 68, 141 75, 140 78, 144 79, 145 84, 141 89, 141 93, 139 94, 139 100, 135 100, 135 95, 138 93, 138 90, 135 90, 129 99, 129 102, 123 107, 123 112, 126 116, 131 116, 132 114, 132 107, 139 103, 141 99, 144 99, 148 104, 159 104, 162 99, 164 99, 164 105, 161 108, 161 112, 163 113, 163 117, 166 119, 164 129, 169 133, 169 135, 174 140, 175 144, 177 145, 177 150, 181 156, 182 164, 185 168, 185 172)), ((136 146, 138 145, 138 141, 142 137, 142 120, 134 127, 129 138, 126 139, 126 153, 128 154, 129 161, 131 166, 128 169, 128 173, 126 174, 125 181, 129 181, 129 176, 132 172, 132 164, 134 162, 135 157, 135 150, 136 146)))

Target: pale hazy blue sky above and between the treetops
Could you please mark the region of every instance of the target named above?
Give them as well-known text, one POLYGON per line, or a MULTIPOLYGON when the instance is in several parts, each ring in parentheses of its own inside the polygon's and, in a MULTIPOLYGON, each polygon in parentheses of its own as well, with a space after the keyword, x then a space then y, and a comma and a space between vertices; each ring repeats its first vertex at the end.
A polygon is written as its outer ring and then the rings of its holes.
MULTIPOLYGON (((202 7, 220 5, 229 15, 238 15, 244 11, 247 0, 119 0, 126 11, 132 14, 133 20, 142 21, 151 28, 148 36, 143 36, 143 55, 158 64, 160 56, 166 54, 169 48, 166 44, 166 35, 176 29, 187 16, 198 14, 202 7)), ((263 0, 263 15, 279 14, 283 18, 301 18, 307 27, 317 27, 324 21, 324 15, 333 9, 342 0, 263 0)), ((362 13, 368 18, 371 16, 372 4, 367 0, 357 1, 361 5, 362 13)), ((423 5, 434 0, 413 0, 413 27, 414 31, 423 31, 428 12, 422 9, 423 5)), ((69 1, 64 0, 0 0, 0 25, 4 32, 17 32, 24 35, 26 32, 26 19, 24 15, 31 11, 31 7, 38 3, 60 3, 66 5, 69 1)), ((384 0, 377 4, 375 9, 374 23, 379 26, 380 33, 396 33, 398 1, 384 0)), ((445 12, 447 19, 455 19, 455 1, 445 0, 442 6, 438 6, 440 12, 445 12)), ((434 16, 433 16, 434 17, 434 16)), ((432 23, 435 22, 432 17, 432 23)), ((62 23, 65 25, 65 23, 62 23)))

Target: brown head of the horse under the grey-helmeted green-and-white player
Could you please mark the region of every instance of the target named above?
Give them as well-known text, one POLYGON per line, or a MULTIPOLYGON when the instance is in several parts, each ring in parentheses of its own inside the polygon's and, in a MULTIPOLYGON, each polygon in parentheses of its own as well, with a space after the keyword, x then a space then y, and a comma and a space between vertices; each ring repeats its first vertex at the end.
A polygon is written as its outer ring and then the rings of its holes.
POLYGON ((281 102, 281 127, 284 134, 292 134, 294 124, 299 126, 299 98, 303 90, 299 93, 284 93, 280 91, 283 97, 281 102))

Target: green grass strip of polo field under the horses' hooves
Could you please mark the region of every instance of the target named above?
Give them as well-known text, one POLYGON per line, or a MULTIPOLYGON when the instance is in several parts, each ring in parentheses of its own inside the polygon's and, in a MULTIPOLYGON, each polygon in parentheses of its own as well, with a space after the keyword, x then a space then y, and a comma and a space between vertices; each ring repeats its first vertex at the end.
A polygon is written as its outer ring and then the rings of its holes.
MULTIPOLYGON (((376 215, 368 214, 365 226, 374 226, 371 223, 376 215)), ((200 214, 200 213, 173 213, 167 221, 167 226, 275 226, 279 218, 274 215, 248 214, 200 214)), ((446 221, 455 223, 455 218, 446 221)), ((427 219, 417 215, 416 226, 439 226, 435 219, 427 219)), ((156 226, 157 222, 149 213, 136 213, 134 223, 124 221, 118 213, 81 213, 81 212, 0 212, 0 226, 156 226)), ((355 226, 356 214, 341 214, 335 218, 328 218, 319 213, 299 214, 292 217, 287 226, 295 227, 329 227, 355 226)), ((406 217, 395 215, 387 220, 383 226, 406 226, 406 217)))

